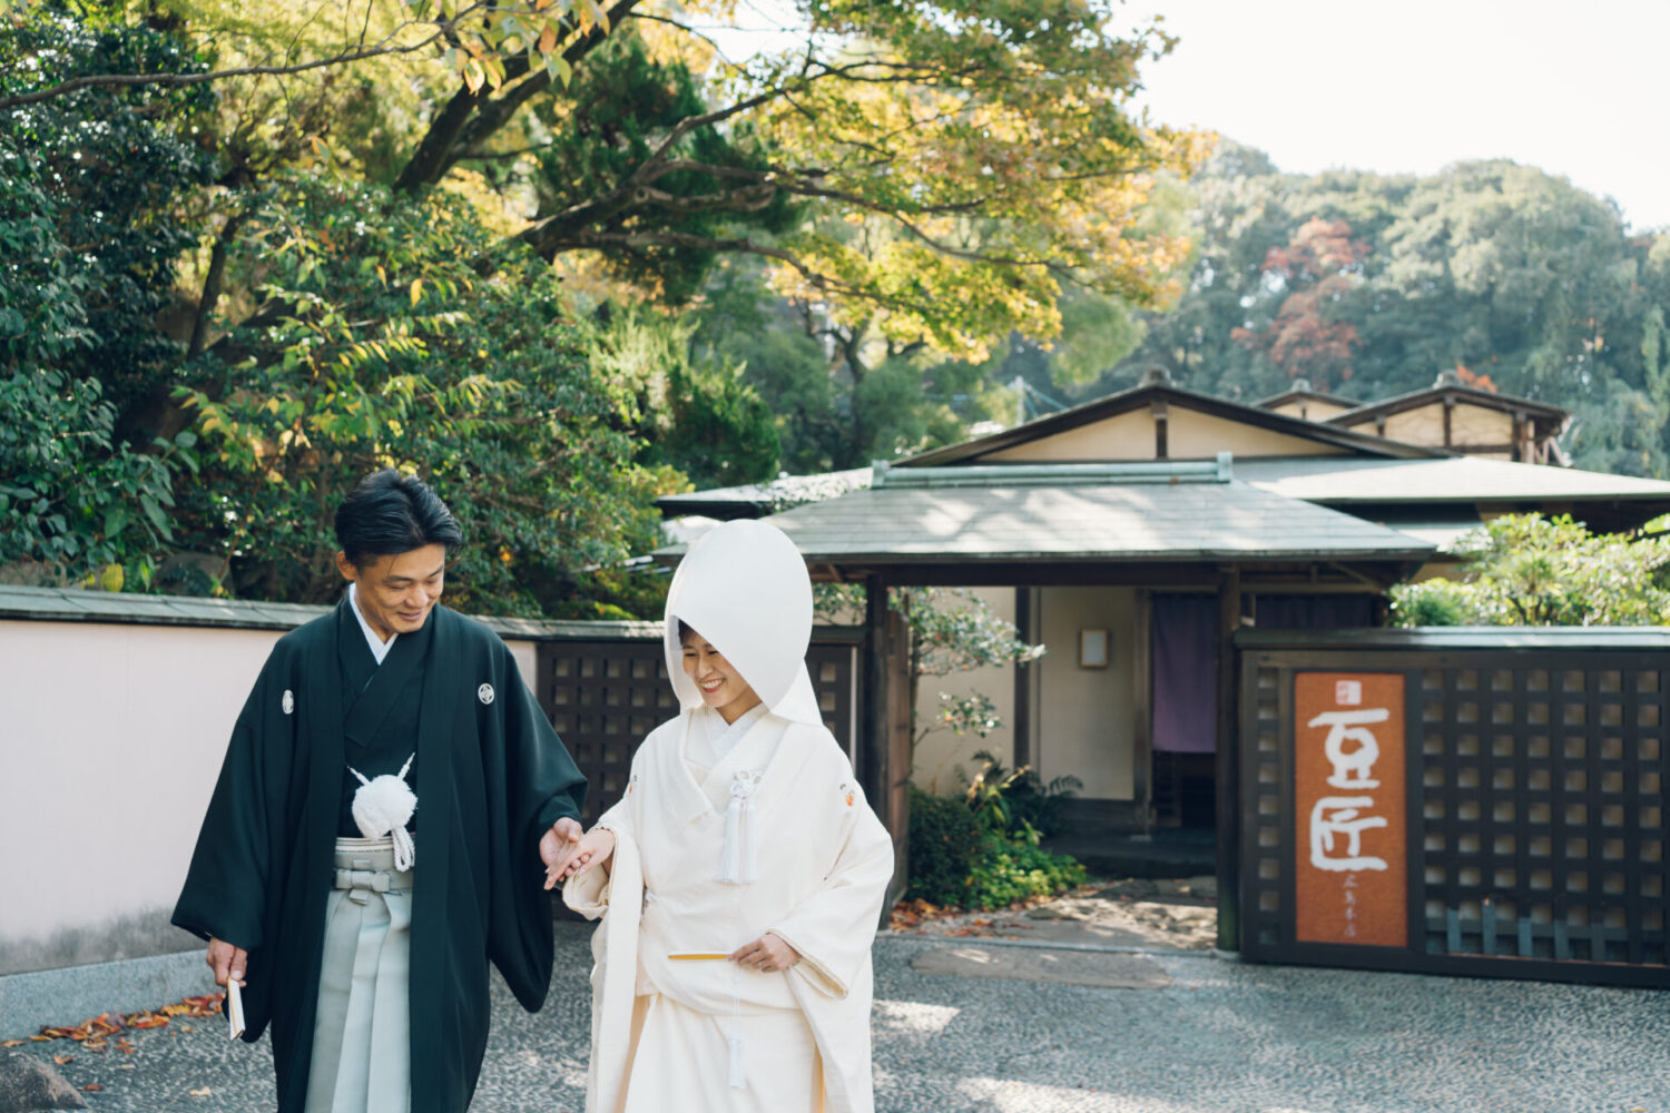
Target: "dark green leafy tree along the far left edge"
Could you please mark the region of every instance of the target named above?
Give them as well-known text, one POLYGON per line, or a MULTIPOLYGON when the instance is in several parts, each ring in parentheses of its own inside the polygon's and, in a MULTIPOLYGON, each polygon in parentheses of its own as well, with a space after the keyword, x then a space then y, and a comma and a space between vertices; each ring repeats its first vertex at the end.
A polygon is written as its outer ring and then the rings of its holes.
MULTIPOLYGON (((47 65, 73 80, 192 60, 145 28, 97 32, 50 12, 8 23, 0 95, 47 65)), ((134 446, 119 414, 182 347, 155 329, 190 242, 169 210, 205 160, 170 128, 204 102, 84 88, 0 115, 0 566, 13 579, 114 562, 144 581, 170 539, 172 481, 195 437, 134 446)))

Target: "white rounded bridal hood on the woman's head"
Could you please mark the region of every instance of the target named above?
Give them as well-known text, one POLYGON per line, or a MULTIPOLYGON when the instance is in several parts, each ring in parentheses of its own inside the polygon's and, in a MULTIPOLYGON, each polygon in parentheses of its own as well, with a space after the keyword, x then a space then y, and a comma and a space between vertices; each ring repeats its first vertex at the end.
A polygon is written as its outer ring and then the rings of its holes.
POLYGON ((666 592, 666 672, 678 704, 690 711, 701 706, 701 692, 685 676, 680 621, 725 654, 772 714, 823 724, 807 674, 812 576, 783 531, 755 521, 725 522, 680 561, 666 592))

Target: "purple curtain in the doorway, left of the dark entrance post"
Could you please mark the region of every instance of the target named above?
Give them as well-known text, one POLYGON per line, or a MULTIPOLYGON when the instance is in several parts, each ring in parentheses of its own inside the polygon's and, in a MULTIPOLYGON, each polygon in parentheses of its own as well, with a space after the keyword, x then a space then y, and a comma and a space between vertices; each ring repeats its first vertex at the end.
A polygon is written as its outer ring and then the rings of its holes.
POLYGON ((1154 749, 1217 753, 1217 596, 1154 596, 1154 749))

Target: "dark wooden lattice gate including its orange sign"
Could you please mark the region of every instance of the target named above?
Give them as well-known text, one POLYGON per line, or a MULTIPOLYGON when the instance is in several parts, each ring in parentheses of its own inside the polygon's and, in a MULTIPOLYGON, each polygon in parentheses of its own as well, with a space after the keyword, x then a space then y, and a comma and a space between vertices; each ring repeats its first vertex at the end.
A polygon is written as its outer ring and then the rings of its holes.
POLYGON ((1670 631, 1236 646, 1244 958, 1670 986, 1670 631))

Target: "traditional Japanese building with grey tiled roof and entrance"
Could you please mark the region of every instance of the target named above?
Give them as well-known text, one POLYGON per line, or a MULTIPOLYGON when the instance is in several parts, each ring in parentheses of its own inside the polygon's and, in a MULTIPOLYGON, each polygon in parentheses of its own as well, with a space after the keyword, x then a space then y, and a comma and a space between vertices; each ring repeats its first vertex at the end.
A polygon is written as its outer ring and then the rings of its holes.
MULTIPOLYGON (((1453 394, 1451 410, 1473 405, 1475 392, 1453 394)), ((1503 412, 1496 395, 1476 394, 1490 402, 1480 412, 1503 412)), ((1388 427, 1399 427, 1394 415, 1388 427)), ((1536 431, 1546 427, 1525 421, 1526 439, 1541 444, 1536 431)), ((1570 512, 1623 531, 1670 511, 1670 482, 1490 456, 1373 436, 1341 414, 1304 419, 1151 380, 868 476, 783 479, 661 506, 768 516, 815 579, 870 589, 857 758, 895 831, 905 769, 949 791, 957 763, 989 748, 1044 779, 1079 778, 1080 823, 1216 824, 1222 866, 1236 833, 1219 818, 1237 814, 1239 791, 1237 634, 1383 626, 1388 587, 1441 569, 1446 549, 1496 514, 1570 512), (845 492, 772 514, 805 497, 805 484, 845 492), (875 602, 910 586, 974 587, 1047 646, 1030 666, 924 681, 920 711, 964 684, 994 699, 1000 731, 930 734, 910 753, 902 631, 875 602)))

